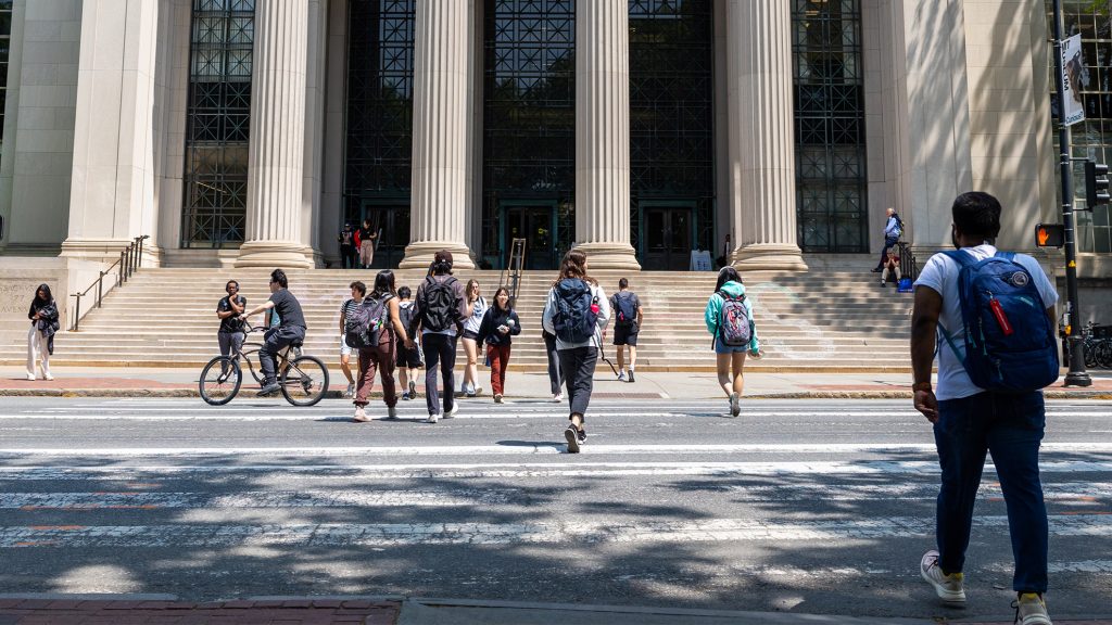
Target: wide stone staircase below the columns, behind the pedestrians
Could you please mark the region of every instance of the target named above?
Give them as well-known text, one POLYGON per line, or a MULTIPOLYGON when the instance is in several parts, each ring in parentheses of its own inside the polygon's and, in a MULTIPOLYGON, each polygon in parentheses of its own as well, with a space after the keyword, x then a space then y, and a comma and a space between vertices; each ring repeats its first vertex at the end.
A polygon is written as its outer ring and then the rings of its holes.
MULTIPOLYGON (((867 265, 866 265, 867 266, 867 265)), ((397 284, 416 286, 420 270, 398 270, 397 284)), ((458 271, 463 281, 476 278, 487 299, 499 271, 458 271)), ((713 272, 598 271, 594 276, 607 295, 626 276, 645 310, 639 336, 638 370, 713 371, 711 338, 703 309, 714 290, 713 272)), ((540 311, 555 277, 553 271, 528 271, 517 302, 523 331, 514 343, 512 367, 545 368, 540 311)), ((239 280, 251 308, 269 297, 268 271, 219 269, 142 269, 122 288, 90 311, 78 333, 56 338, 56 366, 135 366, 200 368, 219 353, 216 302, 229 278, 239 280)), ((305 350, 338 366, 339 306, 348 284, 368 286, 374 271, 289 271, 290 290, 305 309, 309 331, 305 350)), ((867 271, 836 268, 807 274, 748 274, 757 333, 766 351, 746 370, 762 371, 894 371, 909 370, 907 336, 911 295, 881 289, 867 271)), ((256 323, 261 323, 257 319, 256 323)), ((26 360, 23 336, 0 344, 0 363, 26 360)), ((260 335, 251 335, 257 340, 260 335)), ((605 346, 613 361, 614 347, 605 346)), ((460 357, 463 356, 460 351, 460 357)), ((599 363, 605 369, 606 365, 599 363)))

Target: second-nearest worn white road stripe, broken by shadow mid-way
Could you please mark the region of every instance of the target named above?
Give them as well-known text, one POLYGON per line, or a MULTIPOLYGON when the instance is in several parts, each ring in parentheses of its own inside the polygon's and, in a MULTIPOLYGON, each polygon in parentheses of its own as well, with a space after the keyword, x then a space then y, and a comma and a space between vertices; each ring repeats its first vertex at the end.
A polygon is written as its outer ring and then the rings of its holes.
MULTIPOLYGON (((657 485, 633 487, 653 489, 657 485)), ((866 502, 866 500, 933 500, 939 495, 934 482, 920 484, 792 484, 735 485, 705 483, 692 486, 688 493, 728 493, 734 503, 753 502, 866 502)), ((1112 502, 1112 483, 1048 483, 1045 499, 1066 504, 1101 505, 1112 502)), ((502 489, 446 488, 419 490, 367 490, 337 485, 335 490, 246 490, 230 495, 208 493, 4 493, 0 509, 38 510, 103 510, 166 508, 336 508, 336 507, 459 507, 475 504, 522 503, 516 496, 520 488, 502 489)), ((997 484, 981 485, 977 498, 1002 500, 997 484)))

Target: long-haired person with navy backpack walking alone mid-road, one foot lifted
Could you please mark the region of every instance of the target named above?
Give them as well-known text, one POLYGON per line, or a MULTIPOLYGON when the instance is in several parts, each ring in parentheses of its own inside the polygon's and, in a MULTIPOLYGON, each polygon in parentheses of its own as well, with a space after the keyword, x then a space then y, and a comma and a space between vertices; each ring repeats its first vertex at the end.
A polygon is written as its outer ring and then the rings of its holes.
POLYGON ((560 261, 559 278, 545 300, 542 323, 546 331, 556 336, 556 351, 567 386, 567 418, 572 424, 564 430, 564 438, 569 454, 578 454, 579 447, 587 443, 587 405, 603 330, 609 319, 609 299, 598 281, 587 275, 587 255, 568 250, 560 261))

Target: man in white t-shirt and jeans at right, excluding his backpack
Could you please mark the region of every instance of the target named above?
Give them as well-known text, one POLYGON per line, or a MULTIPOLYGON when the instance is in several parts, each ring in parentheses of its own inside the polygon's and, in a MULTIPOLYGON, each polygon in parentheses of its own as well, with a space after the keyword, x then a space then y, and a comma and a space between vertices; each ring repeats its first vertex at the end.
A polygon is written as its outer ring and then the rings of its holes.
MULTIPOLYGON (((992 241, 1000 232, 1000 201, 984 192, 963 194, 954 200, 954 247, 975 260, 996 255, 992 241)), ((1016 255, 1037 287, 1042 308, 1054 326, 1058 292, 1039 264, 1016 255)), ((1012 587, 1019 595, 1017 622, 1050 625, 1042 595, 1046 592, 1048 526, 1039 479, 1039 446, 1045 426, 1041 390, 1022 394, 989 391, 973 384, 962 363, 964 324, 959 292, 960 264, 936 254, 915 281, 911 356, 915 408, 934 424, 934 440, 942 467, 937 503, 937 549, 927 552, 920 573, 946 603, 965 602, 965 550, 973 523, 973 505, 986 453, 993 464, 1004 502, 1015 557, 1012 587), (944 329, 943 329, 944 328, 944 329), (937 346, 939 381, 931 383, 931 364, 937 346)))

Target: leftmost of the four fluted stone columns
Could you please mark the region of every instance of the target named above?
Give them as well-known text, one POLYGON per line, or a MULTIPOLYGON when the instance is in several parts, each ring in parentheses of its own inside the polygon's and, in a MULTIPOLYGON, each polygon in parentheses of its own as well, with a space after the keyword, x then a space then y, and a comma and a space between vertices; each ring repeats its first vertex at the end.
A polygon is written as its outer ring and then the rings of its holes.
POLYGON ((247 240, 236 267, 308 268, 301 238, 309 1, 257 2, 247 240))

